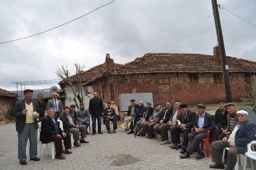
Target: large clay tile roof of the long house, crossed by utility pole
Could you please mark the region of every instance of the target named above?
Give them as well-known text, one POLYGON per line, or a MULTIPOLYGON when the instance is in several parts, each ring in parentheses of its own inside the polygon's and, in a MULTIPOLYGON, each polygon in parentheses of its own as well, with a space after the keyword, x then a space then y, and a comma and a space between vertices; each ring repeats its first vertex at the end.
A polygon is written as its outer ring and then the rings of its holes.
MULTIPOLYGON (((256 72, 256 62, 227 56, 229 72, 256 72)), ((141 74, 169 72, 222 72, 220 62, 212 55, 148 53, 124 64, 112 74, 141 74)))

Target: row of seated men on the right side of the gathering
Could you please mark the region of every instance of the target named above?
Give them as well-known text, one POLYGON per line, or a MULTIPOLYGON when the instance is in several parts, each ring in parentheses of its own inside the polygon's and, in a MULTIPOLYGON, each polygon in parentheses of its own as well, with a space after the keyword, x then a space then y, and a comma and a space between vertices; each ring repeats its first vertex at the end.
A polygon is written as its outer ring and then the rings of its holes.
POLYGON ((215 141, 211 144, 212 162, 210 168, 224 168, 222 162, 223 149, 230 147, 226 158, 226 169, 232 170, 237 161, 237 154, 247 152, 247 144, 255 138, 256 125, 248 120, 248 112, 236 111, 234 103, 219 100, 219 109, 214 116, 208 114, 204 104, 196 105, 196 112, 188 109, 180 100, 166 101, 165 108, 160 104, 151 107, 150 102, 146 106, 140 101, 136 104, 131 100, 127 116, 124 118, 127 134, 154 138, 154 134, 162 136, 160 144, 170 144, 168 130, 171 134, 170 148, 180 150, 180 158, 189 158, 197 152, 196 159, 204 158, 200 148, 201 140, 206 138, 210 130, 215 141), (129 125, 130 122, 130 125, 129 125), (134 127, 135 126, 135 127, 134 127), (130 129, 130 130, 129 130, 130 129), (129 130, 129 131, 128 131, 129 130), (183 142, 180 144, 180 134, 183 133, 183 142), (190 146, 188 147, 188 143, 190 146))

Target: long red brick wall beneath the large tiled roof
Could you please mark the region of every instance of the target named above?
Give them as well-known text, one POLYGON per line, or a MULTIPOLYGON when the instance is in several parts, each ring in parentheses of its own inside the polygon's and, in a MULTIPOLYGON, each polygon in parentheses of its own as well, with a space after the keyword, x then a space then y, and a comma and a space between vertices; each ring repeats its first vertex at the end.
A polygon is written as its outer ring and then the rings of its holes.
MULTIPOLYGON (((241 81, 244 73, 230 74, 230 85, 234 101, 240 101, 243 88, 241 81)), ((224 85, 221 73, 200 74, 135 74, 112 75, 101 78, 92 84, 94 91, 102 97, 105 90, 104 102, 110 101, 110 84, 114 84, 115 103, 119 106, 119 94, 152 92, 154 103, 162 102, 167 98, 180 99, 186 104, 211 104, 218 99, 225 99, 224 85), (167 93, 166 93, 167 92, 167 93)))

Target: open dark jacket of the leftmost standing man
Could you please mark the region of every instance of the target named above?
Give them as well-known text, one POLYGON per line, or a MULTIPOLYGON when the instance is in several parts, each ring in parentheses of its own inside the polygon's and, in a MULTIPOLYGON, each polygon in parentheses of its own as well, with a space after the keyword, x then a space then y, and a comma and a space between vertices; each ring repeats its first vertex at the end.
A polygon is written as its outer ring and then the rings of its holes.
MULTIPOLYGON (((38 102, 36 100, 32 99, 32 104, 33 104, 34 112, 39 113, 38 102)), ((26 109, 25 99, 15 102, 13 117, 16 118, 16 131, 17 132, 22 132, 24 129, 25 123, 26 123, 26 115, 22 114, 22 111, 24 109, 26 109)), ((35 123, 36 123, 36 128, 38 129, 38 121, 36 119, 35 119, 35 123)))

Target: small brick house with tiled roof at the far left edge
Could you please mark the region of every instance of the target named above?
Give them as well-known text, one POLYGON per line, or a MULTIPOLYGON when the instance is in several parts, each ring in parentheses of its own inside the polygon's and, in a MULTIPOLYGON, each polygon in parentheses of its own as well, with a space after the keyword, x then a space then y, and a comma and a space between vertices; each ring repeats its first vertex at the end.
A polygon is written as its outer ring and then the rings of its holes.
POLYGON ((0 88, 0 110, 11 116, 16 101, 17 94, 0 88))

